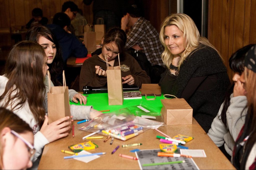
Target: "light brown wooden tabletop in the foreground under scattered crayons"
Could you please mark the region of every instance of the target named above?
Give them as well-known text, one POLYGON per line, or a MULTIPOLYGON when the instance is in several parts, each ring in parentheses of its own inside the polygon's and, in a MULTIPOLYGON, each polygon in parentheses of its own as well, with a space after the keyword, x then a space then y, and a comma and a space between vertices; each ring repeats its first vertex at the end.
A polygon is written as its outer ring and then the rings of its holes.
MULTIPOLYGON (((82 140, 82 137, 90 134, 90 132, 78 130, 76 122, 72 122, 75 125, 74 138, 72 137, 72 132, 70 132, 66 138, 59 139, 45 146, 38 169, 140 169, 137 161, 121 158, 118 155, 122 153, 135 156, 135 153, 130 152, 133 149, 159 149, 160 142, 156 135, 162 135, 150 129, 127 141, 115 139, 113 145, 109 144, 110 140, 105 143, 103 142, 106 136, 104 136, 104 139, 94 139, 93 142, 99 148, 89 152, 106 152, 106 154, 89 163, 74 159, 64 160, 64 156, 70 155, 62 153, 61 150, 69 150, 69 145, 84 142, 85 140, 82 140), (121 147, 121 145, 131 143, 142 143, 143 145, 129 148, 121 147), (111 152, 117 145, 120 145, 120 148, 111 155, 111 152)), ((199 169, 235 169, 194 118, 191 125, 162 126, 158 129, 171 137, 177 134, 193 136, 194 139, 186 143, 185 146, 189 147, 189 149, 204 149, 207 155, 206 158, 193 158, 199 169)))

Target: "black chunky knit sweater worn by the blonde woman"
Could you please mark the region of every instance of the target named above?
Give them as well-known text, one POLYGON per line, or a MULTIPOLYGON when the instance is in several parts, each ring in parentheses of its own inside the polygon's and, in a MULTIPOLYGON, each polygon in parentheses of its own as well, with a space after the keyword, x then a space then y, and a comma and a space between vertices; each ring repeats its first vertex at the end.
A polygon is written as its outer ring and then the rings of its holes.
MULTIPOLYGON (((162 74, 161 82, 166 76, 162 74)), ((209 79, 208 79, 209 80, 209 79)), ((170 94, 178 98, 185 98, 193 108, 193 117, 207 133, 211 127, 213 119, 216 117, 227 87, 230 85, 227 68, 223 64, 217 51, 213 48, 200 45, 182 63, 179 75, 175 80, 170 94), (206 79, 196 79, 196 77, 217 77, 217 83, 209 84, 211 89, 202 90, 202 83, 207 84, 206 79), (197 87, 191 87, 191 80, 200 80, 201 83, 194 82, 197 87), (184 97, 184 91, 190 93, 189 98, 184 97)))

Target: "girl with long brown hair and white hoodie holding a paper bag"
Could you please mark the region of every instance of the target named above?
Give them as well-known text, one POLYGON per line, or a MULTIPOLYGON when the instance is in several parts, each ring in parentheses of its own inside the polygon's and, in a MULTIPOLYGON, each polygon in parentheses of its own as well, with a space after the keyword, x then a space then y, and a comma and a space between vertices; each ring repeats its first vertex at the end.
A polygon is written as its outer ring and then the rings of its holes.
POLYGON ((69 116, 48 124, 43 106, 48 69, 44 49, 36 42, 22 41, 13 46, 6 60, 6 74, 0 76, 0 106, 13 111, 33 129, 33 162, 46 144, 66 137, 71 124, 69 116))

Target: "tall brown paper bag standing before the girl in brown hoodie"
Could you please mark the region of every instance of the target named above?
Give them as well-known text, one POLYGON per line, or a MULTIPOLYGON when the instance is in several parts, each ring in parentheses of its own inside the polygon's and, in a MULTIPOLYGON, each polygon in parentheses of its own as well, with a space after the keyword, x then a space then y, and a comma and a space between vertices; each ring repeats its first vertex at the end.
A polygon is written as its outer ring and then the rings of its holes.
POLYGON ((107 82, 108 82, 108 97, 109 105, 123 105, 124 96, 123 96, 123 85, 122 85, 122 76, 120 69, 120 59, 118 53, 119 66, 109 67, 108 60, 105 60, 107 63, 107 82))

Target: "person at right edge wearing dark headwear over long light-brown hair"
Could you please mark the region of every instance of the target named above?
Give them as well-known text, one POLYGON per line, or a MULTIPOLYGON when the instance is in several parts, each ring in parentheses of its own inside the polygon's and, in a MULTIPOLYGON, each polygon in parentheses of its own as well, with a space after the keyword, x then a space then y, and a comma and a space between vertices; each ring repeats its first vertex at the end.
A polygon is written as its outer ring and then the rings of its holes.
POLYGON ((248 101, 248 112, 235 143, 232 163, 237 169, 256 169, 256 45, 246 54, 244 72, 240 81, 244 83, 248 101))

